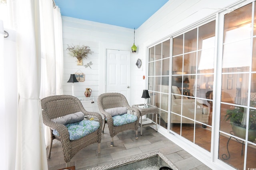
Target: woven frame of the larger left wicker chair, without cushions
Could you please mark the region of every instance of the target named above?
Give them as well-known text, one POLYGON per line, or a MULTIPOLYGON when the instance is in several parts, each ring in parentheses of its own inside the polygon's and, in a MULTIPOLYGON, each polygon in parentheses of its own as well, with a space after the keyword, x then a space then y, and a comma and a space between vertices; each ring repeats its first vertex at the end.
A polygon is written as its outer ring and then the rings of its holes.
POLYGON ((43 122, 46 126, 56 129, 60 136, 54 135, 50 129, 50 147, 48 150, 47 158, 51 156, 52 141, 57 139, 62 144, 62 150, 64 154, 65 162, 70 162, 71 158, 81 149, 98 143, 98 153, 100 153, 100 142, 101 142, 101 129, 102 129, 102 116, 99 113, 88 112, 82 106, 81 101, 70 95, 57 95, 49 96, 41 100, 42 104, 42 117, 43 122), (52 120, 63 117, 68 114, 82 111, 85 117, 94 118, 94 121, 100 122, 100 128, 89 135, 86 135, 78 140, 70 141, 68 129, 65 125, 54 123, 52 120))

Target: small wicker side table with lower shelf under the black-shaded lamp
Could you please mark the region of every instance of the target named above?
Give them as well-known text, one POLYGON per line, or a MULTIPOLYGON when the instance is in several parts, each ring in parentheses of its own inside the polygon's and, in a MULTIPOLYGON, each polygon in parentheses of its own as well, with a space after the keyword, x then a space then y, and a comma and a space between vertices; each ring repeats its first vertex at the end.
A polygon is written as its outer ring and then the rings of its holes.
POLYGON ((142 135, 142 127, 150 126, 150 125, 156 125, 156 132, 157 132, 157 110, 158 108, 156 106, 152 106, 148 104, 148 107, 145 107, 144 104, 135 104, 132 105, 133 108, 138 109, 140 111, 140 135, 142 135), (156 122, 155 123, 148 123, 145 125, 142 125, 142 116, 146 114, 156 114, 156 122))

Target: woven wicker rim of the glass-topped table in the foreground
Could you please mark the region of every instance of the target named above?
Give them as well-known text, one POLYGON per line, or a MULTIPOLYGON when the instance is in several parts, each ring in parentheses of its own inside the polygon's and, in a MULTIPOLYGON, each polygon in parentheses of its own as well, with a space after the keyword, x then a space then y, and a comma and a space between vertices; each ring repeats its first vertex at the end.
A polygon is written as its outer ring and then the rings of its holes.
POLYGON ((135 158, 130 158, 130 159, 126 159, 126 160, 122 160, 122 161, 119 161, 119 162, 115 162, 115 163, 112 163, 112 164, 108 164, 108 165, 102 165, 102 166, 97 166, 97 167, 94 167, 94 168, 90 168, 88 170, 108 170, 110 168, 115 168, 117 166, 122 166, 124 164, 128 164, 128 163, 131 163, 131 162, 135 162, 135 161, 140 161, 140 160, 144 160, 144 159, 147 159, 147 158, 150 158, 152 156, 160 156, 160 158, 162 158, 162 160, 164 160, 164 162, 166 162, 170 168, 172 168, 173 170, 179 170, 172 162, 170 162, 170 160, 168 160, 161 152, 152 152, 152 153, 149 153, 149 154, 144 154, 142 156, 137 156, 135 158))

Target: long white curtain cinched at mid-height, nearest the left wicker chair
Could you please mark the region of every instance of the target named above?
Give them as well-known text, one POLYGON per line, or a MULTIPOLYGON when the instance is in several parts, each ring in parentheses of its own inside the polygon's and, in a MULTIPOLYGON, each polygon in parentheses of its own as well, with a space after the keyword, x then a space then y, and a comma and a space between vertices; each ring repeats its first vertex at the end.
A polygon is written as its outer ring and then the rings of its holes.
POLYGON ((11 0, 17 31, 17 170, 48 169, 40 105, 41 43, 39 0, 11 0))

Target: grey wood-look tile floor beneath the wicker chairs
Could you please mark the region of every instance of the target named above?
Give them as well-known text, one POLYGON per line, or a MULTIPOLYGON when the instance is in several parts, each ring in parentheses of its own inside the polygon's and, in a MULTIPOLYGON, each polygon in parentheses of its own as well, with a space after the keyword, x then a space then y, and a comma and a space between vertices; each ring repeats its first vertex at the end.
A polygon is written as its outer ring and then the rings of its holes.
MULTIPOLYGON (((95 166, 106 165, 159 151, 180 170, 210 170, 202 162, 151 127, 143 127, 143 135, 139 135, 139 139, 135 139, 135 131, 118 133, 114 137, 114 147, 110 147, 110 135, 107 124, 104 132, 102 134, 100 154, 97 152, 98 144, 90 145, 80 150, 67 166, 76 166, 76 170, 86 170, 95 166)), ((138 134, 140 134, 140 127, 138 134)), ((61 143, 54 140, 51 158, 48 159, 48 169, 58 170, 65 167, 66 163, 61 143)))

